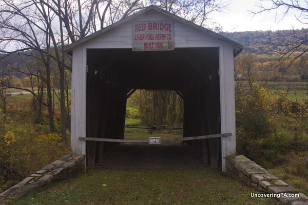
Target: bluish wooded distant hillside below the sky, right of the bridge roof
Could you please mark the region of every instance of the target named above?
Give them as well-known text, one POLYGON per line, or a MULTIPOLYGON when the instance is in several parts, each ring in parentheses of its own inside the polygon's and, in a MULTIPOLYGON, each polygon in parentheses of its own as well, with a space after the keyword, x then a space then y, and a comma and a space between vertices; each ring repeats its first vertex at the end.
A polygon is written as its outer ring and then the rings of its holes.
MULTIPOLYGON (((244 46, 242 53, 266 54, 268 48, 265 44, 277 45, 297 44, 302 40, 308 40, 308 29, 281 30, 281 31, 244 31, 244 32, 222 32, 227 38, 234 40, 244 46)), ((308 44, 306 45, 308 46, 308 44)), ((279 46, 271 45, 273 49, 279 46)), ((303 49, 303 48, 302 48, 303 49)))

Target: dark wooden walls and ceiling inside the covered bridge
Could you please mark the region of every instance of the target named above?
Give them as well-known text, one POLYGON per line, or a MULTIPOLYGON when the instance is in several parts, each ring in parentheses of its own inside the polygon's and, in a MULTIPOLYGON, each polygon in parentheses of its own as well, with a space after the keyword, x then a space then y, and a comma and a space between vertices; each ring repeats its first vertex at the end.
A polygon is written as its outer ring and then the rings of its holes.
MULTIPOLYGON (((124 138, 126 99, 132 89, 177 91, 184 99, 183 137, 221 132, 218 48, 88 49, 87 66, 87 137, 124 138)), ((220 166, 220 138, 186 143, 206 166, 220 166)), ((87 166, 101 165, 113 145, 87 141, 87 166)))

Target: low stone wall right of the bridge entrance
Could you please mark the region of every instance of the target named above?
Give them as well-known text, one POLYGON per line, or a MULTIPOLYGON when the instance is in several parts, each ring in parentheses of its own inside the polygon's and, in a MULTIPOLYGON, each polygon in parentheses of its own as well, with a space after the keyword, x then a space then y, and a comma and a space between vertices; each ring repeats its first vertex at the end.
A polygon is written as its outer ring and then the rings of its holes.
MULTIPOLYGON (((293 187, 287 185, 276 176, 269 174, 264 168, 245 156, 229 156, 226 158, 226 172, 238 176, 247 186, 264 193, 295 193, 293 187)), ((283 204, 308 205, 308 197, 300 193, 299 197, 279 197, 283 204)))

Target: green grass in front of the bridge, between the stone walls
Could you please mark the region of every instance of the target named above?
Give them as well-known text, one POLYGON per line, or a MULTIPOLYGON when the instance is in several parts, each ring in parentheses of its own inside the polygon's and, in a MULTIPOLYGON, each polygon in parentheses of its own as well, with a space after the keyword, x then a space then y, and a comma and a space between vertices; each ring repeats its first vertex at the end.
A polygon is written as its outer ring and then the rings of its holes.
POLYGON ((216 169, 97 169, 11 204, 279 204, 251 192, 216 169))

